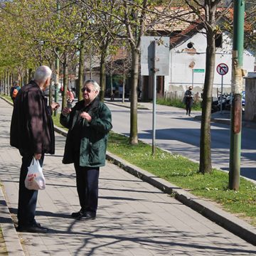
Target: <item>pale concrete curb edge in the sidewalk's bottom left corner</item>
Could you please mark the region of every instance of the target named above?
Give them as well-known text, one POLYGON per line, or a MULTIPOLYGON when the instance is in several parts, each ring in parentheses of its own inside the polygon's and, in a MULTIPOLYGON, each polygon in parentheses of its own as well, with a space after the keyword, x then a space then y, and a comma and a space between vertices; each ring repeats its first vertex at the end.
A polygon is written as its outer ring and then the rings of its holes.
POLYGON ((4 236, 4 242, 8 255, 21 255, 25 256, 21 246, 21 240, 14 227, 14 222, 11 218, 11 213, 4 198, 2 188, 0 188, 0 223, 1 230, 4 236))

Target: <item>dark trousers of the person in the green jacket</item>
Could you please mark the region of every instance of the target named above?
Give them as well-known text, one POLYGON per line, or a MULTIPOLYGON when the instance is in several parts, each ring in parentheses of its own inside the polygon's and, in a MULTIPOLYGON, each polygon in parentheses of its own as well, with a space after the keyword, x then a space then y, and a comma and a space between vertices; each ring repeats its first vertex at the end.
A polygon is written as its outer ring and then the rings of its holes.
POLYGON ((99 167, 82 167, 79 159, 75 161, 76 184, 78 197, 83 213, 97 212, 98 191, 99 191, 99 167))

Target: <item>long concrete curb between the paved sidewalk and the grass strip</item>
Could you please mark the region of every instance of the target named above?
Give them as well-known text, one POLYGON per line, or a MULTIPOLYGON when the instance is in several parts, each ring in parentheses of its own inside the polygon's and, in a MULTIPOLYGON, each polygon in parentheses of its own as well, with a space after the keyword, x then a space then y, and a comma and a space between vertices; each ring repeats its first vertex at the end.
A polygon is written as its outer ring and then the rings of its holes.
MULTIPOLYGON (((67 132, 65 132, 64 129, 59 127, 55 127, 54 129, 55 132, 59 132, 65 137, 67 136, 67 132)), ((201 199, 188 193, 188 191, 169 183, 169 181, 165 181, 163 178, 154 176, 154 174, 150 174, 148 171, 144 171, 133 164, 129 164, 124 159, 121 159, 119 156, 116 156, 109 151, 107 151, 106 159, 112 162, 112 164, 119 166, 124 171, 127 171, 129 174, 159 188, 164 193, 173 194, 174 197, 184 205, 196 210, 201 215, 212 220, 243 240, 250 242, 252 245, 256 245, 256 228, 246 223, 244 220, 214 206, 213 203, 206 201, 206 199, 201 199)))

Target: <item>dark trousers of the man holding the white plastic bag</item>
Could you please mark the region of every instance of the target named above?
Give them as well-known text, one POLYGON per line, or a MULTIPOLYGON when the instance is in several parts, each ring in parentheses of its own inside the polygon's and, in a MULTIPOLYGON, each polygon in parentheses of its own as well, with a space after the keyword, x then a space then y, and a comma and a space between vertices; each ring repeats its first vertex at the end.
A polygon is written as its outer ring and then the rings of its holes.
MULTIPOLYGON (((36 223, 36 201, 38 197, 38 191, 29 190, 25 187, 25 178, 28 173, 28 166, 31 165, 33 155, 21 152, 22 164, 21 173, 19 179, 18 190, 18 225, 27 226, 36 223)), ((39 160, 41 166, 43 166, 43 156, 39 160)))

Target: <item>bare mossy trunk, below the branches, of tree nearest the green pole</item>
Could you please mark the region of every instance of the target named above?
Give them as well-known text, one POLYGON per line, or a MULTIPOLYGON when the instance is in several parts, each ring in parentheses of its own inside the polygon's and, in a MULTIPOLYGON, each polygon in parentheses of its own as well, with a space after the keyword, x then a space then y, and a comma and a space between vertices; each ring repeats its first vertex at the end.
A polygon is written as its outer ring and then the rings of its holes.
POLYGON ((206 48, 206 77, 203 87, 203 106, 201 119, 201 138, 200 138, 200 167, 202 174, 212 171, 210 155, 210 117, 211 102, 213 95, 213 79, 215 71, 215 36, 207 33, 206 48))

